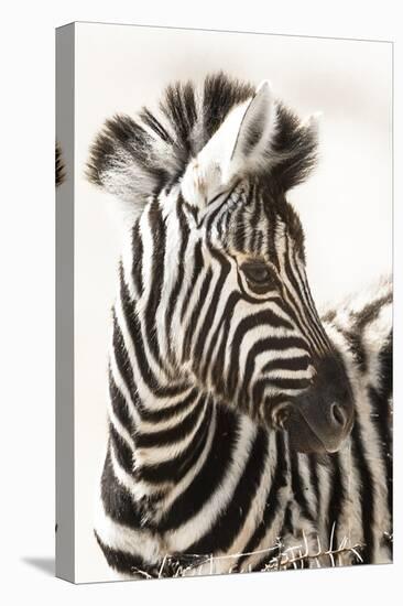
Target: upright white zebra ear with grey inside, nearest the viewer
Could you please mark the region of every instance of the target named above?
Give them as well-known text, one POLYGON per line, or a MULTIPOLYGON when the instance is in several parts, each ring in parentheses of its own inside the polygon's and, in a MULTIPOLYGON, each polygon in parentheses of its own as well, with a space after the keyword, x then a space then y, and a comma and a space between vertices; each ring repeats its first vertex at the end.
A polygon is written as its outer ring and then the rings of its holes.
POLYGON ((254 97, 232 109, 188 165, 182 190, 194 206, 205 206, 236 176, 268 169, 268 150, 275 132, 276 106, 269 82, 254 97))

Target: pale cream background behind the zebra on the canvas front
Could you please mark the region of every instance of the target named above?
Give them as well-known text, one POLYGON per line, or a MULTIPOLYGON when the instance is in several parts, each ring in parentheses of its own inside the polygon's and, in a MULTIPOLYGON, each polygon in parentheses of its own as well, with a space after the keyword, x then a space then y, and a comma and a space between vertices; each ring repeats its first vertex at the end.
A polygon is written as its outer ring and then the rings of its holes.
POLYGON ((274 94, 303 119, 320 110, 318 165, 288 199, 306 234, 314 300, 319 309, 327 301, 335 305, 391 272, 392 44, 75 28, 75 544, 76 581, 88 582, 110 577, 92 527, 107 441, 110 306, 122 246, 116 198, 85 178, 96 133, 116 112, 157 105, 168 83, 203 83, 219 69, 257 85, 270 77, 274 94))

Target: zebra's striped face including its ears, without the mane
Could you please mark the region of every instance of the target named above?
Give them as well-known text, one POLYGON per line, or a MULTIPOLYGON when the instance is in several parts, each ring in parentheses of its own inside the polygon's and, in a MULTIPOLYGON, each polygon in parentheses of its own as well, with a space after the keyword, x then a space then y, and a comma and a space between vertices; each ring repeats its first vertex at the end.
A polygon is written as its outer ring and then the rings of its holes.
POLYGON ((294 123, 287 149, 292 129, 279 136, 281 121, 263 84, 184 174, 204 278, 194 284, 197 312, 187 316, 181 360, 230 405, 286 429, 298 451, 333 452, 352 425, 351 389, 316 312, 303 229, 285 199, 309 167, 316 126, 294 123))

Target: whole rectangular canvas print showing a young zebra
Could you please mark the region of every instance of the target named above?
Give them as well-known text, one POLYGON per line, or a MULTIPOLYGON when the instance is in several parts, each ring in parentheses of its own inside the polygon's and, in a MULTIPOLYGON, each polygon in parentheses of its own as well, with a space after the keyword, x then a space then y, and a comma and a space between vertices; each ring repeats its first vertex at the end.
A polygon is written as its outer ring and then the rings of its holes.
POLYGON ((392 562, 391 52, 59 31, 61 576, 392 562))

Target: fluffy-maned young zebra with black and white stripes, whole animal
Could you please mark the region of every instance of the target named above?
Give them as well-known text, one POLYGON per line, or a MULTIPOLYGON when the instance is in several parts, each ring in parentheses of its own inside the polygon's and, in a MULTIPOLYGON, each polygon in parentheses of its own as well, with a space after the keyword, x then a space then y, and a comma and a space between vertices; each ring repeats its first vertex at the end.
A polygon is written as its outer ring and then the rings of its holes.
POLYGON ((318 547, 390 561, 391 290, 318 317, 285 197, 315 119, 222 74, 168 87, 160 112, 107 121, 88 164, 126 234, 95 529, 109 565, 263 570, 301 542, 308 565, 334 561, 318 547))

